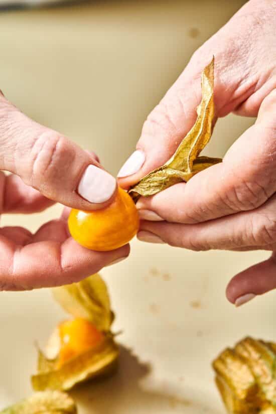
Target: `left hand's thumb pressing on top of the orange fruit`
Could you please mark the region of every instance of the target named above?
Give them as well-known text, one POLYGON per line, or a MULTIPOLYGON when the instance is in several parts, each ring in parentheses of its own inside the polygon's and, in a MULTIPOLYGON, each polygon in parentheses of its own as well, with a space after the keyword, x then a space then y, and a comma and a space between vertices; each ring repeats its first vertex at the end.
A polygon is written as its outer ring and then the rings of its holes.
POLYGON ((109 204, 116 180, 88 152, 42 126, 0 94, 0 169, 17 174, 44 196, 93 210, 109 204))

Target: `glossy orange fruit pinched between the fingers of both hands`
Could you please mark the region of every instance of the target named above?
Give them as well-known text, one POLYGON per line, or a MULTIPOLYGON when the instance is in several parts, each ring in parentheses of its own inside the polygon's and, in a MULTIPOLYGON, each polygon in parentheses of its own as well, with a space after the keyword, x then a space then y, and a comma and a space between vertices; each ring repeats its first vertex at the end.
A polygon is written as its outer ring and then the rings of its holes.
POLYGON ((68 218, 71 236, 91 250, 114 250, 127 244, 139 229, 139 215, 131 197, 121 188, 112 203, 101 210, 72 209, 68 218))

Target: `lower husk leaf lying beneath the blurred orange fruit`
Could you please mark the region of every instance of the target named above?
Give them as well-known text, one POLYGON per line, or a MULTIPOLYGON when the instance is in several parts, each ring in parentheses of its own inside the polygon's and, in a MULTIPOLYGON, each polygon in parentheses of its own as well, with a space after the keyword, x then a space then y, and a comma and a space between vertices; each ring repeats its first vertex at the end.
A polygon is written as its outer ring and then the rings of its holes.
POLYGON ((93 349, 70 359, 60 368, 55 368, 42 351, 39 353, 38 374, 32 376, 36 391, 69 390, 74 385, 90 378, 111 372, 118 358, 119 350, 111 335, 93 349))

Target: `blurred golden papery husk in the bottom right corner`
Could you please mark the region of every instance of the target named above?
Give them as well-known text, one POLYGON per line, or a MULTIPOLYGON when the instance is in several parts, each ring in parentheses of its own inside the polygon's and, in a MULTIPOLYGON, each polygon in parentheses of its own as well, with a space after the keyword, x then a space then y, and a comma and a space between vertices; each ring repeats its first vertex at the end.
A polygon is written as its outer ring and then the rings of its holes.
POLYGON ((245 338, 213 362, 216 384, 230 414, 276 412, 276 345, 245 338))

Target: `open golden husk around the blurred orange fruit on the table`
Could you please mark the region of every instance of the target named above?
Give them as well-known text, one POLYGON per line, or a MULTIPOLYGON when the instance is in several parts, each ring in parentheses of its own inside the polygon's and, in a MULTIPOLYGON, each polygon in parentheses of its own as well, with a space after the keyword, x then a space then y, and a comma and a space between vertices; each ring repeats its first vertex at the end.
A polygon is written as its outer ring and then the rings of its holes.
POLYGON ((116 367, 118 346, 110 331, 114 314, 106 285, 99 274, 79 283, 53 289, 56 301, 73 317, 83 318, 103 334, 98 345, 60 366, 59 330, 49 339, 46 351, 38 349, 37 374, 31 378, 35 390, 69 390, 90 378, 107 375, 116 367))

